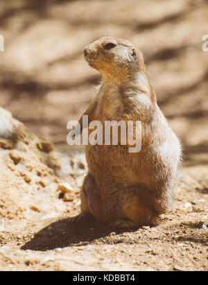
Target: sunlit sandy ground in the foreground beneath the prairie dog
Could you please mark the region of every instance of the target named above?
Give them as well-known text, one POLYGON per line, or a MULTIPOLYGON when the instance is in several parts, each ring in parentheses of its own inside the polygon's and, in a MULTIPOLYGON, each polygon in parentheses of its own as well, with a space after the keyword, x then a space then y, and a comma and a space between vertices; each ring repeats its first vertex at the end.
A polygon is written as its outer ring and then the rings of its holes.
POLYGON ((121 232, 69 215, 7 221, 1 270, 207 270, 207 191, 177 189, 157 227, 121 232))

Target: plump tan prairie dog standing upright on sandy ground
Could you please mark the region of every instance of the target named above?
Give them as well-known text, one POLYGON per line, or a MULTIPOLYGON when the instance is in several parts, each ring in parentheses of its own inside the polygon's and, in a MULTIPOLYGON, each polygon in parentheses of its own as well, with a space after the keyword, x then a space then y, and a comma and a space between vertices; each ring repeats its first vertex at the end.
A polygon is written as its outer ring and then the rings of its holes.
POLYGON ((84 53, 103 78, 84 113, 89 123, 141 121, 142 136, 139 153, 121 144, 86 146, 82 214, 112 227, 154 225, 172 202, 180 142, 159 110, 139 49, 127 40, 102 37, 84 53))

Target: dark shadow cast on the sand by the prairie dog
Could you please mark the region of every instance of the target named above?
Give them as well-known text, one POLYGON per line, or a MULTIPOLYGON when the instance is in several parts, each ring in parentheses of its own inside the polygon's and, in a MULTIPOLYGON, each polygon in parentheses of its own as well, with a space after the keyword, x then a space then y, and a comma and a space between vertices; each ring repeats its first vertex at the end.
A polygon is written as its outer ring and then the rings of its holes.
MULTIPOLYGON (((21 250, 53 250, 70 245, 85 245, 94 239, 105 237, 112 229, 97 223, 91 215, 78 215, 51 223, 35 234, 21 250)), ((121 232, 121 231, 120 231, 121 232)))

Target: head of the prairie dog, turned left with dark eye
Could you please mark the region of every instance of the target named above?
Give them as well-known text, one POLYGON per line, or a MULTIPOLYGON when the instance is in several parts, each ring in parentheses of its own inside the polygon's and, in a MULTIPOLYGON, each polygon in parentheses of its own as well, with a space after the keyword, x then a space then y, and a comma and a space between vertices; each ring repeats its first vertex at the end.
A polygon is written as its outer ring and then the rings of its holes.
POLYGON ((89 66, 100 71, 103 79, 125 81, 144 70, 144 59, 139 49, 128 40, 101 37, 85 46, 85 59, 89 66))

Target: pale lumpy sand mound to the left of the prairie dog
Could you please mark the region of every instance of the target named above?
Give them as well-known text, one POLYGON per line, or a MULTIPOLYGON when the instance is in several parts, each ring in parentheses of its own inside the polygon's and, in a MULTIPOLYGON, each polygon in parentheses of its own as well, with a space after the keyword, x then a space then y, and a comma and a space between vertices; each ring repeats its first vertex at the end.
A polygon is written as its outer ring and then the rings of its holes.
POLYGON ((70 157, 0 108, 0 217, 46 218, 74 211, 78 188, 72 171, 70 157))

